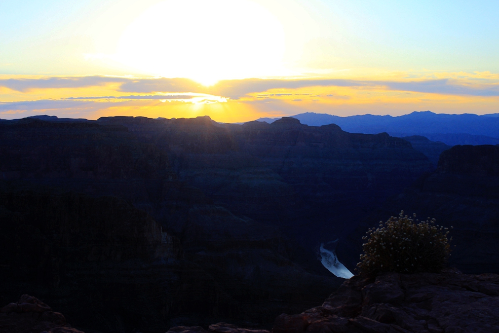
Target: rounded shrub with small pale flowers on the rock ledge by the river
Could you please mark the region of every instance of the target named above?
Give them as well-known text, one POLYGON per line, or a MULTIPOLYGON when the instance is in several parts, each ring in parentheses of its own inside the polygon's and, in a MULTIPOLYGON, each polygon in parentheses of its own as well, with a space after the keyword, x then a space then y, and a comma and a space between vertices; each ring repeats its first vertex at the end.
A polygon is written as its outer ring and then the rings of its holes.
MULTIPOLYGON (((362 275, 374 276, 382 272, 414 273, 434 272, 442 270, 450 255, 449 231, 435 225, 435 219, 428 217, 419 221, 416 214, 413 218, 404 216, 390 217, 383 226, 369 229, 367 240, 362 245, 364 254, 357 264, 362 275)), ((452 228, 452 227, 450 227, 452 228)))

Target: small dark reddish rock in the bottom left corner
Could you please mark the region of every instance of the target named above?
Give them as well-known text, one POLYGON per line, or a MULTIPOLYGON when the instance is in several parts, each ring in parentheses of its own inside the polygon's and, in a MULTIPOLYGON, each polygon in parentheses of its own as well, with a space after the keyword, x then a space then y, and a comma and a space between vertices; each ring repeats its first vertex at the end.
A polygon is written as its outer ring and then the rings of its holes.
POLYGON ((0 331, 4 333, 83 333, 66 323, 66 318, 39 299, 22 295, 17 303, 0 310, 0 331))

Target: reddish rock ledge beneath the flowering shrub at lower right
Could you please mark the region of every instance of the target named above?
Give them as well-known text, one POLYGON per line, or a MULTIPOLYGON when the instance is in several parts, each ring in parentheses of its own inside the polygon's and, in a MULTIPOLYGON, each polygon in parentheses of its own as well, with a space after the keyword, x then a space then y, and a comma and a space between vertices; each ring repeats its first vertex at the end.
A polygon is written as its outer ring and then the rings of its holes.
MULTIPOLYGON (((453 333, 499 332, 499 275, 387 273, 354 276, 322 306, 276 318, 273 333, 453 333)), ((219 323, 209 330, 243 333, 219 323)), ((174 327, 170 333, 204 333, 174 327)), ((262 332, 262 331, 261 331, 262 332)))

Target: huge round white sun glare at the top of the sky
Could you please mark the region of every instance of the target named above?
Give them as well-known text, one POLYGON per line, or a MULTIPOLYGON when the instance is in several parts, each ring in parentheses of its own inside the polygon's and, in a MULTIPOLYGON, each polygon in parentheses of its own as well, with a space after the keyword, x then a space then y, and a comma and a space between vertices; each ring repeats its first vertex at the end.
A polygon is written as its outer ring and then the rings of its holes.
POLYGON ((281 75, 279 20, 248 0, 163 1, 123 32, 115 59, 143 72, 212 85, 222 79, 281 75))

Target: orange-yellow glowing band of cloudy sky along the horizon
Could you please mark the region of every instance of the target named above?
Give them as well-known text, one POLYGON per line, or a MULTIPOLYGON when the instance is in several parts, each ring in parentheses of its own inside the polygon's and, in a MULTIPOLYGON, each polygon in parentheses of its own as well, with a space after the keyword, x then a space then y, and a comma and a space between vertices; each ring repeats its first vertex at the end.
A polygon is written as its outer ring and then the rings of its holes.
POLYGON ((498 86, 499 76, 490 72, 406 73, 405 78, 397 72, 376 80, 229 80, 211 87, 185 79, 3 75, 0 118, 207 115, 232 123, 305 112, 338 116, 399 116, 423 110, 491 114, 499 113, 498 86), (306 80, 331 83, 309 85, 306 80))

